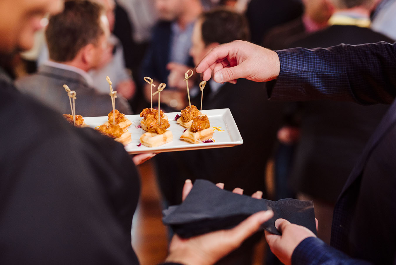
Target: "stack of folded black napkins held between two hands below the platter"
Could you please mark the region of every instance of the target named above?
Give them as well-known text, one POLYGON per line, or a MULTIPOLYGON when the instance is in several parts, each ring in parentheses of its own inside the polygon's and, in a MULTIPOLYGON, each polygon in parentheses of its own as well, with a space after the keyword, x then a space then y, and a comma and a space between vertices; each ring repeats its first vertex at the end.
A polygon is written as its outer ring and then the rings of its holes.
POLYGON ((314 205, 312 201, 282 199, 276 202, 257 200, 247 195, 235 194, 218 188, 210 181, 197 179, 190 193, 180 205, 162 211, 162 221, 182 238, 235 227, 244 219, 271 208, 272 219, 261 225, 274 234, 275 220, 284 218, 290 223, 302 225, 316 234, 314 205))

